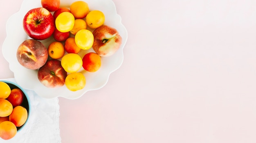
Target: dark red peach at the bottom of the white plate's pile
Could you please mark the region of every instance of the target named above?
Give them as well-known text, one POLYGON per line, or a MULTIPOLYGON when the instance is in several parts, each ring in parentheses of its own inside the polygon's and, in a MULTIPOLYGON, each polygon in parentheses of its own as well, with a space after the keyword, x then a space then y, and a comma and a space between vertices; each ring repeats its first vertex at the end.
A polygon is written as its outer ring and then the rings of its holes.
POLYGON ((65 85, 67 72, 61 66, 61 61, 51 59, 38 70, 38 80, 49 88, 62 87, 65 85))

